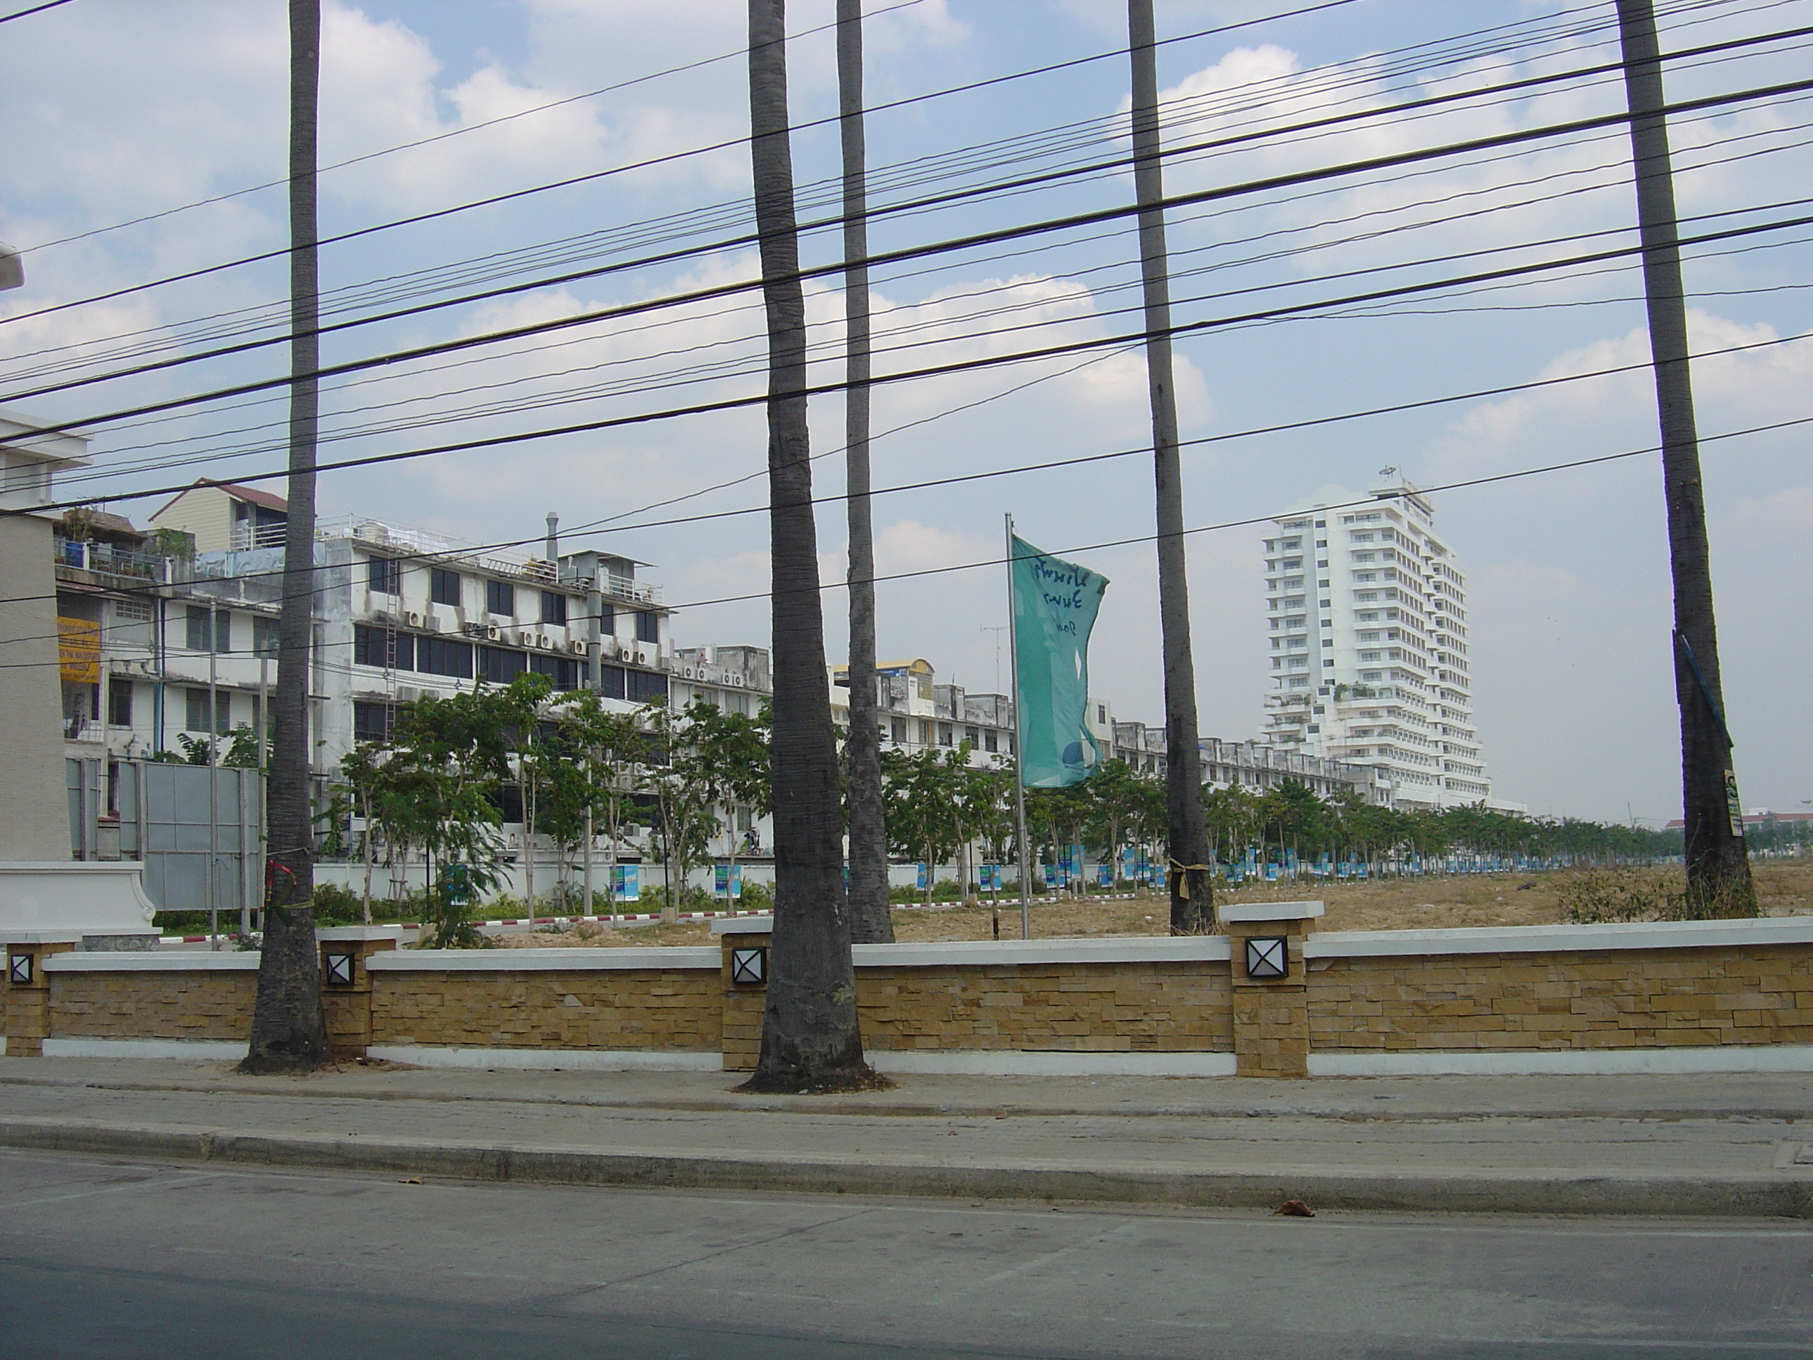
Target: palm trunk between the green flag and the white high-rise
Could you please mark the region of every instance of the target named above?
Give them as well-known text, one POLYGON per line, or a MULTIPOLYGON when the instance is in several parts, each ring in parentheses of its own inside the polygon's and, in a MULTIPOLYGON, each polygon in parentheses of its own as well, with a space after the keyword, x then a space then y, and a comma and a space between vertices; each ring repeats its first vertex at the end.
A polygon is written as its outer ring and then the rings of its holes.
POLYGON ((1164 174, 1159 167, 1159 80, 1151 0, 1128 0, 1133 56, 1133 185, 1140 201, 1140 272, 1146 287, 1146 381, 1151 390, 1153 486, 1159 506, 1159 626, 1164 649, 1164 792, 1171 858, 1171 932, 1213 928, 1207 825, 1202 820, 1202 749, 1197 740, 1197 664, 1189 647, 1189 580, 1184 562, 1184 471, 1177 453, 1171 381, 1171 287, 1166 265, 1164 174))

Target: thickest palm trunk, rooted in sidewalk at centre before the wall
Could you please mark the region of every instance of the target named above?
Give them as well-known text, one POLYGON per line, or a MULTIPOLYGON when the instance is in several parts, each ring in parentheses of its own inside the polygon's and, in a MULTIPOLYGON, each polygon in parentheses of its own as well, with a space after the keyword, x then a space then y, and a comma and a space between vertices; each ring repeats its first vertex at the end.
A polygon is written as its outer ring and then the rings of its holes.
POLYGON ((805 421, 805 294, 787 131, 785 0, 749 0, 749 154, 769 321, 774 936, 752 1092, 887 1084, 863 1061, 805 421))

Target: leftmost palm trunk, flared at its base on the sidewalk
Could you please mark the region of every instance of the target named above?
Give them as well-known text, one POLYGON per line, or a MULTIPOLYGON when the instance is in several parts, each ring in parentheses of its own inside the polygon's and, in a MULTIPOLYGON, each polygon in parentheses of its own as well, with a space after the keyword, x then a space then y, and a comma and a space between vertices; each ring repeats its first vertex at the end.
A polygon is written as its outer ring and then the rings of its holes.
POLYGON ((315 836, 308 798, 308 644, 314 629, 315 433, 321 413, 315 256, 315 112, 321 0, 290 0, 290 504, 265 825, 265 945, 241 1072, 297 1072, 328 1061, 315 957, 315 836), (305 377, 306 375, 306 377, 305 377))

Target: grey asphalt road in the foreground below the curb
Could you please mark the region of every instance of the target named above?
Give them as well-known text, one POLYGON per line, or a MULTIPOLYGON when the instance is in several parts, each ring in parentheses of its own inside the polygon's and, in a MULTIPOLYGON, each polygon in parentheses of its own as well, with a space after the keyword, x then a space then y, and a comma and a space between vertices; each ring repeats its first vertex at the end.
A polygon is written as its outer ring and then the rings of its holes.
POLYGON ((0 1356, 1806 1356, 1813 1226, 402 1184, 0 1153, 0 1356))

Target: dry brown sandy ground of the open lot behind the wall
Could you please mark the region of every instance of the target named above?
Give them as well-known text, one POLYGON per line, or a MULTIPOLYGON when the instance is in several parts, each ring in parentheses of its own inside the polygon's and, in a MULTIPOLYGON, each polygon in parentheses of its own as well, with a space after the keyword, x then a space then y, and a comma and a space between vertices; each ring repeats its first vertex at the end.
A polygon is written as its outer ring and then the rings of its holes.
MULTIPOLYGON (((1653 883, 1661 870, 1619 870, 1653 883)), ((1757 863, 1757 898, 1766 916, 1813 914, 1813 861, 1757 863)), ((1320 896, 1327 903, 1323 930, 1412 930, 1461 925, 1552 925, 1561 921, 1561 896, 1579 879, 1575 870, 1543 874, 1467 874, 1380 883, 1323 883, 1244 889, 1226 901, 1284 901, 1320 896)), ((1160 936, 1166 934, 1164 898, 1122 901, 1033 903, 1033 937, 1053 936, 1160 936)), ((988 939, 992 916, 983 907, 896 907, 894 934, 901 941, 988 939)), ((1019 903, 1001 903, 1001 936, 1019 937, 1019 903)), ((502 936, 506 948, 609 945, 709 945, 705 921, 678 925, 595 927, 580 923, 564 934, 502 936)))

